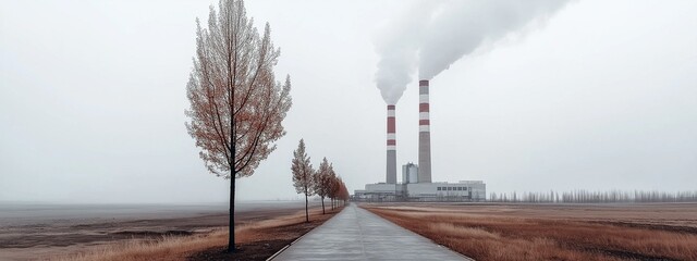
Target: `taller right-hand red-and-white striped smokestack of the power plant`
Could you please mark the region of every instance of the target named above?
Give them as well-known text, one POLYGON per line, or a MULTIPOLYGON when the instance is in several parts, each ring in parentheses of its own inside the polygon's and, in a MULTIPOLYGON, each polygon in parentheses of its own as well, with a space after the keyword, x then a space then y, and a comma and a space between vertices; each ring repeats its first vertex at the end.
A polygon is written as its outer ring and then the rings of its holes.
POLYGON ((418 82, 418 183, 431 183, 431 133, 428 79, 418 82))

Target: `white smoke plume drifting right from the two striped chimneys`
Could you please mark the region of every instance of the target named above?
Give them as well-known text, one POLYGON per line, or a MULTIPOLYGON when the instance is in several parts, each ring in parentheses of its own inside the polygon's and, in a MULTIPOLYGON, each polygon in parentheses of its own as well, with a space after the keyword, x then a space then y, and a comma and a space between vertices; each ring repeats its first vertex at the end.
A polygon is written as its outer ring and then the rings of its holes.
POLYGON ((545 21, 566 0, 442 0, 416 2, 377 37, 376 83, 394 104, 418 66, 431 79, 485 44, 545 21))

